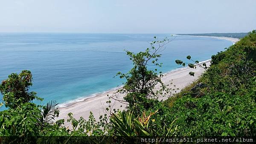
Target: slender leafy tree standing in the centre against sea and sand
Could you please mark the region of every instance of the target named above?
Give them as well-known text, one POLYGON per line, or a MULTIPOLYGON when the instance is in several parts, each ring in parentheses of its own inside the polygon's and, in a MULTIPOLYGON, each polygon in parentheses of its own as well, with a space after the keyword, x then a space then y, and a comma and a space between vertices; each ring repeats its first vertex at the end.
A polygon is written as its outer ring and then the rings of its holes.
MULTIPOLYGON (((129 109, 137 110, 148 109, 154 105, 159 95, 168 93, 169 89, 163 84, 161 78, 162 72, 157 72, 157 69, 148 69, 148 66, 161 67, 162 63, 158 63, 158 58, 161 57, 160 52, 164 50, 164 46, 170 42, 167 38, 157 40, 150 43, 150 48, 145 52, 126 51, 126 54, 132 60, 134 67, 126 74, 118 72, 120 78, 125 78, 124 86, 118 92, 125 93, 124 100, 128 103, 129 109), (155 86, 160 84, 160 89, 155 89, 155 86)), ((120 101, 120 100, 119 100, 120 101)))

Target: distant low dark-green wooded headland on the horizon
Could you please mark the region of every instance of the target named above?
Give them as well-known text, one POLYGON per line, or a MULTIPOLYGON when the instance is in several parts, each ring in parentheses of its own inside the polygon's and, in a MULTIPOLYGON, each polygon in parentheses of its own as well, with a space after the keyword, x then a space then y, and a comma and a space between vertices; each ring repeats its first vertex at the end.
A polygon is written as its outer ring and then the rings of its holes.
POLYGON ((234 37, 234 38, 242 38, 246 36, 247 32, 239 32, 239 33, 207 33, 207 34, 177 34, 177 35, 195 35, 195 36, 214 36, 214 37, 234 37))

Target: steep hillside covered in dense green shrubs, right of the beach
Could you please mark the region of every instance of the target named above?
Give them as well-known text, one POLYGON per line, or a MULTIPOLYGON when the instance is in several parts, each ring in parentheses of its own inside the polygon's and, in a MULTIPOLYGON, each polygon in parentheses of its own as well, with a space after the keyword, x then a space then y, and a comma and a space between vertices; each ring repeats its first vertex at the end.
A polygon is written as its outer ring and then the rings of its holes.
POLYGON ((197 82, 165 102, 179 135, 255 136, 256 32, 213 55, 211 63, 197 82))

